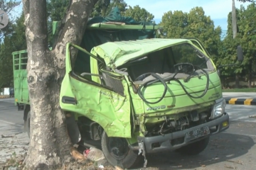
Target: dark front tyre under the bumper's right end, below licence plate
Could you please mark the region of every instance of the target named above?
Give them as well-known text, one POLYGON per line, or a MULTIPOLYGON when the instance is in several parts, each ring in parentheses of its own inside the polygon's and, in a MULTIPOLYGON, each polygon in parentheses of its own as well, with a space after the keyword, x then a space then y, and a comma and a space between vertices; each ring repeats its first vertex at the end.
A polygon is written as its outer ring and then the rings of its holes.
POLYGON ((206 137, 203 140, 199 140, 198 142, 194 142, 185 147, 176 149, 176 152, 180 154, 186 154, 186 155, 200 154, 201 152, 203 152, 204 149, 206 149, 209 143, 209 140, 210 140, 210 137, 206 137))

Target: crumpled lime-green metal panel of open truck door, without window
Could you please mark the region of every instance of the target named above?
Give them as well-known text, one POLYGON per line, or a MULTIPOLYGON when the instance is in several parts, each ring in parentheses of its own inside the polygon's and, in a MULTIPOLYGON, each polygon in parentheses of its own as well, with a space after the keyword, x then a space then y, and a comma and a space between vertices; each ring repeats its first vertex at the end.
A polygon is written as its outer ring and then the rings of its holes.
MULTIPOLYGON (((79 47, 78 49, 83 51, 79 47)), ((131 138, 131 105, 127 82, 122 81, 124 95, 120 95, 97 82, 75 76, 70 69, 67 47, 66 74, 60 89, 60 108, 90 118, 101 125, 109 137, 131 138), (62 100, 63 97, 75 102, 67 103, 62 100)))

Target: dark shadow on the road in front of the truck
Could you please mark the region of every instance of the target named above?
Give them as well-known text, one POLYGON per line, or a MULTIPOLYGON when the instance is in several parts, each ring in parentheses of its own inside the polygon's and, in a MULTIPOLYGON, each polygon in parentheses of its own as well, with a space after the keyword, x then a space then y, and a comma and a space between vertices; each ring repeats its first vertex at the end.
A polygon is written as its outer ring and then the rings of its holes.
MULTIPOLYGON (((206 150, 197 156, 182 156, 176 152, 148 154, 147 167, 149 167, 149 169, 155 168, 161 170, 198 169, 198 167, 205 167, 218 162, 226 162, 227 159, 237 159, 247 154, 254 145, 255 142, 252 137, 220 133, 213 135, 210 138, 210 143, 206 150)), ((224 166, 223 169, 225 169, 224 166)))

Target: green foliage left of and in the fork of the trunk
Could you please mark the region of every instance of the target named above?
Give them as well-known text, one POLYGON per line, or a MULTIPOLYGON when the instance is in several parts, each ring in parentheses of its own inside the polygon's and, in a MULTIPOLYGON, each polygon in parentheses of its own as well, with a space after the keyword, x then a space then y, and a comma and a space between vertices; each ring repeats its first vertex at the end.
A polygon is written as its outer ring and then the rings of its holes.
MULTIPOLYGON (((4 0, 0 0, 1 4, 4 0)), ((20 2, 17 1, 4 1, 4 11, 10 11, 15 6, 18 6, 20 2)), ((48 0, 48 42, 52 42, 52 21, 60 21, 65 15, 65 11, 68 8, 69 0, 48 0)), ((18 50, 26 49, 26 28, 23 25, 24 16, 23 13, 16 20, 16 23, 9 23, 8 31, 4 29, 0 30, 1 34, 4 35, 4 40, 0 45, 0 88, 4 86, 13 86, 13 61, 11 53, 18 50), (5 32, 3 32, 5 31, 5 32)), ((1 40, 0 40, 1 42, 1 40)))

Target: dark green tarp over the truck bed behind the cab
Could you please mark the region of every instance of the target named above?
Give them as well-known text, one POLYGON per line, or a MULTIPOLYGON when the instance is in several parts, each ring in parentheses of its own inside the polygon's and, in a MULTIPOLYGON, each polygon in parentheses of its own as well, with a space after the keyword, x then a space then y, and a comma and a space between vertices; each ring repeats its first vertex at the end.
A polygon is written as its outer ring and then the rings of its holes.
MULTIPOLYGON (((110 14, 106 17, 95 17, 87 22, 87 25, 92 25, 94 23, 107 23, 107 22, 119 22, 125 23, 125 25, 135 25, 142 26, 140 30, 132 29, 90 29, 85 30, 85 35, 82 38, 80 47, 85 48, 88 52, 92 50, 93 47, 101 45, 105 42, 114 42, 122 40, 142 40, 145 38, 156 38, 155 30, 146 29, 146 26, 155 26, 151 22, 137 22, 133 18, 121 16, 119 9, 113 8, 110 14)), ((78 58, 75 62, 75 72, 90 72, 90 57, 82 52, 78 52, 78 58)))

